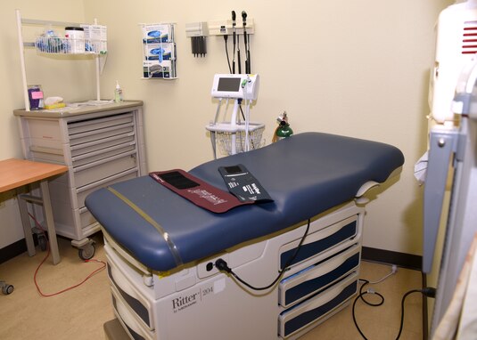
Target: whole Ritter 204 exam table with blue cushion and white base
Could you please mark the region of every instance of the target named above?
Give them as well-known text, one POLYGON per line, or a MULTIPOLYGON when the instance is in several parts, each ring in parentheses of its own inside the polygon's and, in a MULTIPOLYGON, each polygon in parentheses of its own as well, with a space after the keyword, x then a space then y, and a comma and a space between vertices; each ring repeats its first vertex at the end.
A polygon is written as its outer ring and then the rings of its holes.
POLYGON ((227 191, 218 167, 246 166, 273 202, 211 213, 150 176, 96 190, 86 206, 103 228, 118 320, 134 339, 301 336, 356 295, 358 197, 403 163, 391 145, 305 133, 189 172, 227 191), (218 259, 255 287, 284 274, 253 290, 218 259))

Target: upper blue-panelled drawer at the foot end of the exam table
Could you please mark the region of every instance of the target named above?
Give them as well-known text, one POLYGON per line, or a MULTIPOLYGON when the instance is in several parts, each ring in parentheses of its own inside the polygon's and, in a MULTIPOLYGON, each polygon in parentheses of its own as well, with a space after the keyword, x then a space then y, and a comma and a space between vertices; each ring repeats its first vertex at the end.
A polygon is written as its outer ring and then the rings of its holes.
MULTIPOLYGON (((131 310, 131 313, 136 316, 138 323, 144 328, 154 330, 154 320, 152 318, 152 304, 151 300, 140 291, 137 282, 132 282, 129 278, 132 276, 126 271, 131 270, 130 267, 125 271, 117 261, 114 260, 114 255, 106 254, 108 264, 108 277, 111 281, 111 287, 114 287, 122 300, 131 310)), ((145 286, 144 286, 145 287, 145 286)))

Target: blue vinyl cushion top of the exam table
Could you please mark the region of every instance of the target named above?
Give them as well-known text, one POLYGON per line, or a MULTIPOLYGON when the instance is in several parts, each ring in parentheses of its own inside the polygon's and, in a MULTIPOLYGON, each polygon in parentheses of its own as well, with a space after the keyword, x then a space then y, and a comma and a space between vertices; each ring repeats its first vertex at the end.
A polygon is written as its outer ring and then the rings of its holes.
POLYGON ((214 214, 193 205, 150 176, 112 184, 160 224, 169 237, 146 222, 105 188, 86 198, 86 206, 112 239, 154 271, 215 255, 229 247, 281 231, 355 198, 368 181, 384 182, 404 163, 402 152, 388 144, 333 134, 295 134, 258 150, 219 158, 189 173, 227 190, 218 166, 243 164, 274 202, 238 206, 214 214))

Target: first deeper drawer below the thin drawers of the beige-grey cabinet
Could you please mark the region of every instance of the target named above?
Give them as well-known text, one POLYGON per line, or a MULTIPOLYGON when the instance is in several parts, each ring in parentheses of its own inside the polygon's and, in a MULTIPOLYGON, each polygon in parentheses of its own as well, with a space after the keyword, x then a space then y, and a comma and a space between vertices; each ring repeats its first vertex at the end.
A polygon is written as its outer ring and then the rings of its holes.
POLYGON ((136 167, 136 151, 119 154, 111 158, 104 158, 85 166, 73 168, 75 173, 76 187, 103 180, 114 174, 119 174, 136 167))

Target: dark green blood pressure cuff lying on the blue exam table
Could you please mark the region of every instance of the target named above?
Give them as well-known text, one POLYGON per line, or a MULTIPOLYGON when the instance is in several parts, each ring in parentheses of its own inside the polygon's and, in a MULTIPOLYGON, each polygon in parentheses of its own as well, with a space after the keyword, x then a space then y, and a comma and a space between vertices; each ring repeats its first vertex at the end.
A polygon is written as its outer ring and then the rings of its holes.
POLYGON ((236 166, 219 166, 228 190, 241 202, 273 202, 268 192, 259 181, 242 164, 236 166))

